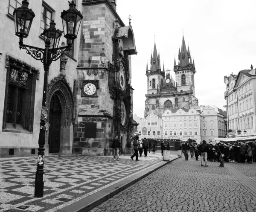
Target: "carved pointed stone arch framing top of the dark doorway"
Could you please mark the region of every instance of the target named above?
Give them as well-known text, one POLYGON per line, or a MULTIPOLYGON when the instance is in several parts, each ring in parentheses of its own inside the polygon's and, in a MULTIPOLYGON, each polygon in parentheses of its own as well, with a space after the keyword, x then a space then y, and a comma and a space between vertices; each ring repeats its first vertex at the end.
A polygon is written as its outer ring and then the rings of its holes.
POLYGON ((50 81, 50 83, 47 85, 47 96, 46 96, 46 102, 47 102, 47 108, 50 107, 50 101, 52 99, 52 96, 56 95, 59 99, 62 113, 63 113, 63 125, 64 126, 70 126, 71 123, 74 122, 74 98, 72 89, 67 82, 66 76, 63 74, 60 74, 59 76, 55 77, 50 81))

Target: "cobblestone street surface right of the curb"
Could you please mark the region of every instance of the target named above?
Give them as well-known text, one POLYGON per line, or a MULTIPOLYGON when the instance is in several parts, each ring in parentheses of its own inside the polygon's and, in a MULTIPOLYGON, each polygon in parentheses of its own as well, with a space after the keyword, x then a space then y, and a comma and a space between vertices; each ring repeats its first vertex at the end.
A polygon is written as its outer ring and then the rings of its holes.
POLYGON ((181 157, 90 212, 256 212, 256 163, 208 165, 181 157))

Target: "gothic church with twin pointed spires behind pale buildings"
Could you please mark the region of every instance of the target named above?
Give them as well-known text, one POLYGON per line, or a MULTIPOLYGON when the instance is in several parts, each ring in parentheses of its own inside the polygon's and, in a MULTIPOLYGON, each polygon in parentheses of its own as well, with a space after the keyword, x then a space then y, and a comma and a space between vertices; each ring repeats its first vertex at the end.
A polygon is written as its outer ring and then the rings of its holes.
POLYGON ((148 93, 145 95, 145 117, 151 113, 161 117, 167 109, 198 107, 198 99, 195 97, 195 63, 194 60, 192 62, 189 47, 186 49, 184 36, 178 59, 178 64, 174 59, 174 79, 170 75, 170 70, 165 71, 164 65, 163 70, 161 69, 160 53, 158 52, 157 55, 156 44, 154 44, 150 70, 148 70, 148 64, 146 67, 148 93))

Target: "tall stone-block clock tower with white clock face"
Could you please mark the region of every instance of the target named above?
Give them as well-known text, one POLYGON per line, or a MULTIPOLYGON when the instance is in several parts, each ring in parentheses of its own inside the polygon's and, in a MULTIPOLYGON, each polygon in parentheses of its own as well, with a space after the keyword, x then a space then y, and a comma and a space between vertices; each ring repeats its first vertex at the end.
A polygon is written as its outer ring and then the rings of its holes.
POLYGON ((136 125, 131 87, 131 55, 137 54, 134 33, 116 13, 116 0, 86 0, 82 6, 73 153, 111 154, 116 135, 126 153, 136 125))

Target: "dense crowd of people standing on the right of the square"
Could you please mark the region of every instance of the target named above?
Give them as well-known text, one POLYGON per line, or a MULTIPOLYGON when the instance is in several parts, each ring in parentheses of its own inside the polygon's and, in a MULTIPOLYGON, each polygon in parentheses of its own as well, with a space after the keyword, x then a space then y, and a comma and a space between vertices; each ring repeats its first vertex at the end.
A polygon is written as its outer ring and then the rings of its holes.
POLYGON ((207 144, 203 140, 200 144, 194 144, 191 142, 184 142, 179 145, 179 149, 182 150, 185 160, 190 157, 198 160, 198 156, 201 156, 201 166, 208 166, 209 162, 220 162, 220 167, 224 167, 226 163, 252 163, 256 162, 256 141, 254 142, 235 142, 235 143, 221 143, 207 144))

